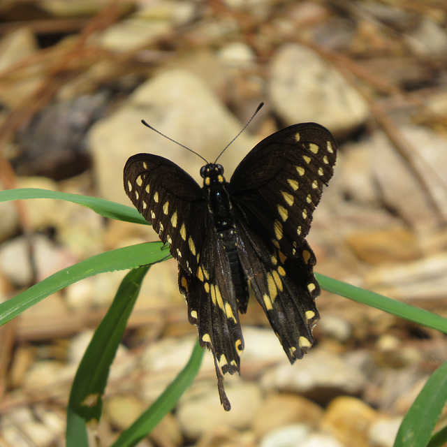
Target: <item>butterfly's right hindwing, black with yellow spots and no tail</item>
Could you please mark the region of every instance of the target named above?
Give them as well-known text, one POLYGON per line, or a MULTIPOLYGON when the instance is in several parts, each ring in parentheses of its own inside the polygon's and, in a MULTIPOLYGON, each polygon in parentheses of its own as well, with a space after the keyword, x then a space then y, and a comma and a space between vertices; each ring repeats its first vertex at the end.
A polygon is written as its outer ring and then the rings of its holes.
MULTIPOLYGON (((240 259, 251 288, 293 363, 314 342, 312 329, 319 318, 315 298, 320 294, 320 287, 312 268, 300 258, 285 256, 243 223, 239 229, 240 259)), ((305 249, 311 251, 307 242, 305 249)))

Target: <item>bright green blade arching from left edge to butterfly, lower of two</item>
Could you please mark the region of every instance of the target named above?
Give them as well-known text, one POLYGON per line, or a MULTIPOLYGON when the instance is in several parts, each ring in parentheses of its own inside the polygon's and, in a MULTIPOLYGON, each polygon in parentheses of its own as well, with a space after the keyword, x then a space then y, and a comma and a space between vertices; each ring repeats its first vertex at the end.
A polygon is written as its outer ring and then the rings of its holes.
POLYGON ((71 267, 64 268, 35 284, 15 297, 0 303, 0 326, 29 309, 54 292, 98 273, 129 270, 153 264, 169 255, 161 242, 145 242, 92 256, 71 267))

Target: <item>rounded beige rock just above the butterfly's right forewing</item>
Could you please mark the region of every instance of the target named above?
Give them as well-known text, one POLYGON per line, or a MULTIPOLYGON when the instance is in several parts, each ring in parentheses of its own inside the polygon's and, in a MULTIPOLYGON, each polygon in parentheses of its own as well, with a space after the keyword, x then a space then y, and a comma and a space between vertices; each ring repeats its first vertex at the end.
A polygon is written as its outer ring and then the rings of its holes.
POLYGON ((369 115, 360 94, 328 61, 297 44, 284 45, 272 59, 270 101, 287 125, 318 122, 337 137, 369 115))

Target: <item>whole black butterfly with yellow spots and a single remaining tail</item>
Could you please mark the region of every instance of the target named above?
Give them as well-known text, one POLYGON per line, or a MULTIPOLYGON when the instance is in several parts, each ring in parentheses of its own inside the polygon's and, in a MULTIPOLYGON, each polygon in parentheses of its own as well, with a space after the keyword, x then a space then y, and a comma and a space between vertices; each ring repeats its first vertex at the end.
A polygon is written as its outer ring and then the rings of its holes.
POLYGON ((189 321, 212 351, 227 411, 223 375, 240 372, 248 282, 291 363, 312 346, 321 291, 305 237, 336 150, 327 129, 303 123, 259 142, 230 182, 217 160, 200 170, 203 187, 161 156, 136 154, 126 163, 124 189, 178 262, 189 321))

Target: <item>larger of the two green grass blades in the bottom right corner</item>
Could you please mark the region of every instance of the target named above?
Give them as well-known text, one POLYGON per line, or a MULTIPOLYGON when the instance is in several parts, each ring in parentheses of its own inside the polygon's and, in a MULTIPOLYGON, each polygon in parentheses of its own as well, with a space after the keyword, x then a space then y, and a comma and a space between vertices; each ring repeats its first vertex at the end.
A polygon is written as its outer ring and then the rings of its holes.
POLYGON ((427 380, 423 390, 406 413, 394 447, 425 447, 447 401, 447 362, 427 380))

